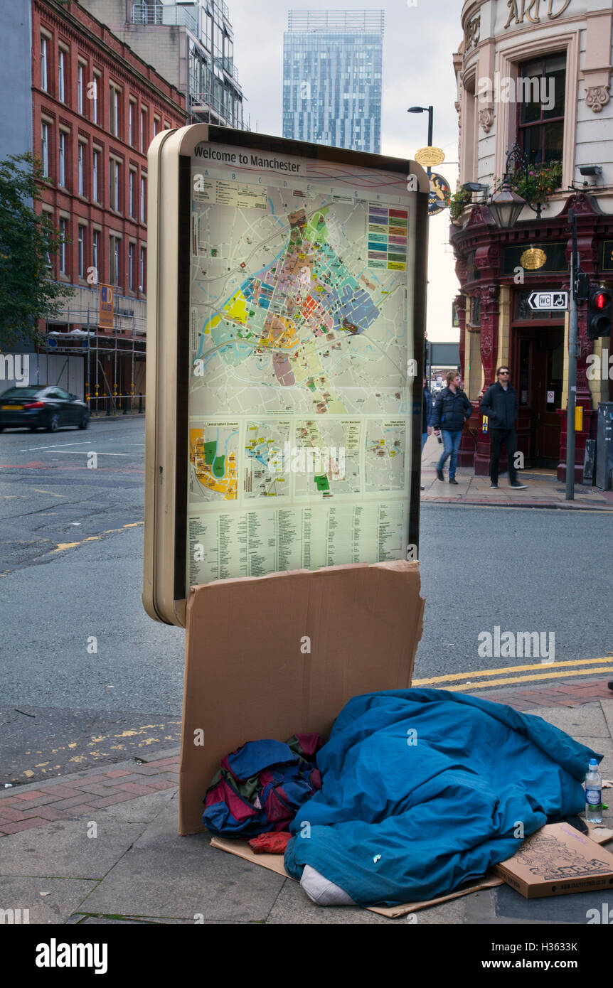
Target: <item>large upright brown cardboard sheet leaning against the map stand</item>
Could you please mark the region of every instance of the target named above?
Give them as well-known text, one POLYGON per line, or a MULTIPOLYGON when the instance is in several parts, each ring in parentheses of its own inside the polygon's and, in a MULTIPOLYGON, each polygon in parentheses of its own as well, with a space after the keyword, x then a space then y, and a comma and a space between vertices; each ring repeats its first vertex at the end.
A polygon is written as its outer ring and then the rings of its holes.
POLYGON ((424 600, 416 562, 356 563, 191 587, 179 833, 204 830, 220 759, 247 741, 327 737, 343 705, 410 686, 424 600))

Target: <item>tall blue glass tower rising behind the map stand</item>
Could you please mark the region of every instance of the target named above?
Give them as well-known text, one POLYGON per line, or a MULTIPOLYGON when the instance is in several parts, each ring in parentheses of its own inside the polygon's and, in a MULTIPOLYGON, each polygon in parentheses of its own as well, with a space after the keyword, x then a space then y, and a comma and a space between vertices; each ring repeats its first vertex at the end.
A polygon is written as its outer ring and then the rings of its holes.
POLYGON ((381 150, 385 13, 291 10, 283 36, 283 136, 381 150))

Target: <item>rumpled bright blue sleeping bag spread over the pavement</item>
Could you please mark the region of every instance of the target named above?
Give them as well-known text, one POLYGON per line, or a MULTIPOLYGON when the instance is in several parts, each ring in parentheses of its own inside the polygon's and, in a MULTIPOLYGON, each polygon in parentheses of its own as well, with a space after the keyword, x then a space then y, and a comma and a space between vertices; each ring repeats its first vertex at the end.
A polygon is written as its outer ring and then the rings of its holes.
POLYGON ((300 878, 310 864, 365 906, 448 894, 582 811, 590 758, 602 755, 501 703, 354 697, 317 755, 322 787, 290 827, 286 869, 300 878))

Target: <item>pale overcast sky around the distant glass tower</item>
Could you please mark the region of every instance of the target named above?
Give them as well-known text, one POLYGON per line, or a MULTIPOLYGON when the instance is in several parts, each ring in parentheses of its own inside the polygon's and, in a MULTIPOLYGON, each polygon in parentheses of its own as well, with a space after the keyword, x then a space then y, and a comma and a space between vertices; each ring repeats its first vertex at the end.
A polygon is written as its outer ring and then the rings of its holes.
MULTIPOLYGON (((462 41, 461 0, 225 0, 234 32, 234 62, 246 102, 245 120, 260 133, 282 134, 283 33, 289 10, 384 10, 382 154, 412 158, 427 144, 428 115, 411 106, 434 107, 432 143, 445 152, 436 167, 455 192, 458 178, 458 115, 453 52, 462 41), (256 127, 257 124, 257 127, 256 127)), ((457 341, 452 302, 459 284, 449 240, 449 210, 429 220, 427 334, 457 341)))

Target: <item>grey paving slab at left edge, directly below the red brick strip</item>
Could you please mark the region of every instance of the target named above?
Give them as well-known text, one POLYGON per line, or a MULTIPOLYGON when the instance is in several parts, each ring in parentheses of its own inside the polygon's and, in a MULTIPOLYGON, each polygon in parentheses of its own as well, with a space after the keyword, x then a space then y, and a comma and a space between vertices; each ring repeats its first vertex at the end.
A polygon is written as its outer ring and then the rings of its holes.
POLYGON ((144 826, 99 820, 98 836, 88 837, 87 824, 83 817, 3 837, 3 873, 102 878, 126 854, 144 826))

